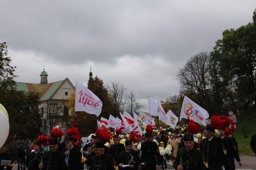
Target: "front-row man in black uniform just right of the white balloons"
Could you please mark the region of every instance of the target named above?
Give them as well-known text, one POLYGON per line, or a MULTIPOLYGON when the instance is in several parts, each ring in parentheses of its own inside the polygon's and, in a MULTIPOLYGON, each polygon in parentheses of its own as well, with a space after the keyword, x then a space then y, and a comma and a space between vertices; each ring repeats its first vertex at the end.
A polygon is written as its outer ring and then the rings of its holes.
POLYGON ((175 170, 206 170, 203 162, 203 153, 194 148, 193 135, 184 135, 185 148, 178 149, 173 163, 175 170))

